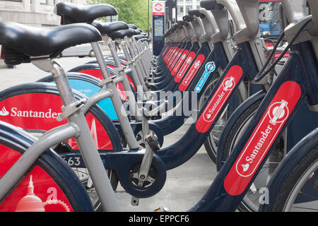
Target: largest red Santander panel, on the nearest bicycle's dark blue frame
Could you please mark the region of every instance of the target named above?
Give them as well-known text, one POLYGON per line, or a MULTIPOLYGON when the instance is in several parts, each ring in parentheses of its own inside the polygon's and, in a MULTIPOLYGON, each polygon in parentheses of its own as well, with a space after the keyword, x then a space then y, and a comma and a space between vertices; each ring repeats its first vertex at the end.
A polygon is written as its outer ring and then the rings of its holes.
POLYGON ((238 196, 247 189, 300 100, 301 94, 300 85, 295 81, 287 81, 277 90, 245 147, 240 150, 240 156, 225 177, 224 188, 228 194, 238 196))

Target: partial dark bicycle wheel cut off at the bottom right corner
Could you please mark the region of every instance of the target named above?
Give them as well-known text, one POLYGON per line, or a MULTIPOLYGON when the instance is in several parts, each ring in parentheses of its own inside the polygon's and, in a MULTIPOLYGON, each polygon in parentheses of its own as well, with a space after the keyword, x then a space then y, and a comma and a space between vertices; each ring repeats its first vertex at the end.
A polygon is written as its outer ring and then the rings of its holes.
POLYGON ((271 200, 261 211, 318 212, 318 129, 287 155, 269 182, 271 200))

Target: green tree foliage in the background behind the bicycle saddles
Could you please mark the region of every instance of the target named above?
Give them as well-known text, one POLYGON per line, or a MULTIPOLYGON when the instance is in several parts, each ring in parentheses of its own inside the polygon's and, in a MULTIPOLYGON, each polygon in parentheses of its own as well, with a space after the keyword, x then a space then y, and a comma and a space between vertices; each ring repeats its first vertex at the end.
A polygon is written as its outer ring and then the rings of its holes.
MULTIPOLYGON (((148 29, 148 0, 89 0, 88 4, 110 4, 118 11, 118 20, 133 23, 144 32, 148 29)), ((149 16, 151 17, 151 1, 149 0, 149 16)), ((105 18, 101 18, 105 21, 105 18)), ((149 18, 151 30, 151 18, 149 18)))

